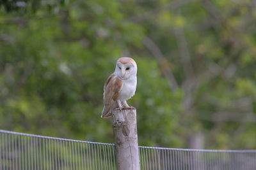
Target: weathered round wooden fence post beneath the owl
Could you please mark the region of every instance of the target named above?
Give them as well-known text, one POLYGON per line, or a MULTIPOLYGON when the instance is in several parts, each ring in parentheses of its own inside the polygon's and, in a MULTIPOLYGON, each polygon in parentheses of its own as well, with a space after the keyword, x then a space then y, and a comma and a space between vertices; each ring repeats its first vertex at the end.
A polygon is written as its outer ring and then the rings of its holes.
POLYGON ((140 170, 136 109, 113 110, 118 170, 140 170))

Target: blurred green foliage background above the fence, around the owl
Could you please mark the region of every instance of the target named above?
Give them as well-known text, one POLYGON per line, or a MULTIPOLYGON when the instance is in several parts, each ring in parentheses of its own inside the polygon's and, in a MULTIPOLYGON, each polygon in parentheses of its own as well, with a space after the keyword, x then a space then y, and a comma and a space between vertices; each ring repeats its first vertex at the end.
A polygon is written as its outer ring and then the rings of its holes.
POLYGON ((0 128, 113 143, 103 85, 138 64, 143 146, 256 148, 252 0, 2 0, 0 128))

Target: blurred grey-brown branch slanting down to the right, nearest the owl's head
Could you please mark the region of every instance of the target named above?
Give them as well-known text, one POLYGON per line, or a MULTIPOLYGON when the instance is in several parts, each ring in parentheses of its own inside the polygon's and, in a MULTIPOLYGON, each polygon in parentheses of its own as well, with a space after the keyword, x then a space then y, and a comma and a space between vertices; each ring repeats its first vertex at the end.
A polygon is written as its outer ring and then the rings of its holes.
POLYGON ((168 66, 168 61, 164 57, 163 53, 159 49, 159 47, 152 41, 152 39, 146 37, 143 41, 144 45, 148 48, 148 50, 154 55, 156 58, 160 69, 162 73, 164 74, 165 78, 168 80, 169 86, 172 89, 172 91, 177 90, 178 88, 178 83, 175 80, 175 77, 172 73, 172 70, 168 66))

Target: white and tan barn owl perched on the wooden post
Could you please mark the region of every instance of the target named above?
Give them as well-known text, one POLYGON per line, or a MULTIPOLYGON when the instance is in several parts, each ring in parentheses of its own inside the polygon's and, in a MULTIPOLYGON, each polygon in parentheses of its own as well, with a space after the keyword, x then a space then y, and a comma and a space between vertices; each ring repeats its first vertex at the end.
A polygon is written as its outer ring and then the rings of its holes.
POLYGON ((111 117, 115 108, 130 108, 127 100, 135 94, 137 85, 137 64, 129 57, 117 60, 115 72, 109 76, 104 85, 104 108, 102 118, 111 117))

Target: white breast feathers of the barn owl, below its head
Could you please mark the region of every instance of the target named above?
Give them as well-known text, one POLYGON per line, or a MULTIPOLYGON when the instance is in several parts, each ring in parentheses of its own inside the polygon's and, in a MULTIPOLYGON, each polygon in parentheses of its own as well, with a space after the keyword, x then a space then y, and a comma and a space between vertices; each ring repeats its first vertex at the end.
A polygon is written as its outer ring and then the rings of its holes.
POLYGON ((134 96, 137 86, 137 77, 132 76, 131 78, 123 81, 123 87, 119 92, 119 99, 121 101, 126 101, 134 96))

